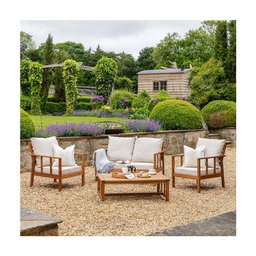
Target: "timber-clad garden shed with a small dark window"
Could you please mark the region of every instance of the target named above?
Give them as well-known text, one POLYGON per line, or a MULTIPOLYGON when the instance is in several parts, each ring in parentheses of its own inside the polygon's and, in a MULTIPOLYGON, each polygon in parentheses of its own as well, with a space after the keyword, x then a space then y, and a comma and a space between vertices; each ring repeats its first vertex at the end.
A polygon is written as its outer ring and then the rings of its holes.
POLYGON ((166 68, 156 70, 143 70, 138 72, 138 93, 146 90, 150 97, 160 90, 166 90, 173 97, 188 97, 189 68, 166 68))

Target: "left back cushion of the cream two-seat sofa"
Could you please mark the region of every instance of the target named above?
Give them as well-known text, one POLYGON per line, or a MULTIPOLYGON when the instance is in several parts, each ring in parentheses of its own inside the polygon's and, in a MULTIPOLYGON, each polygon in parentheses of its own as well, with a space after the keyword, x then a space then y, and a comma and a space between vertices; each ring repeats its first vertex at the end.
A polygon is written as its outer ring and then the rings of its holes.
POLYGON ((126 161, 132 159, 135 138, 108 136, 109 161, 126 161))

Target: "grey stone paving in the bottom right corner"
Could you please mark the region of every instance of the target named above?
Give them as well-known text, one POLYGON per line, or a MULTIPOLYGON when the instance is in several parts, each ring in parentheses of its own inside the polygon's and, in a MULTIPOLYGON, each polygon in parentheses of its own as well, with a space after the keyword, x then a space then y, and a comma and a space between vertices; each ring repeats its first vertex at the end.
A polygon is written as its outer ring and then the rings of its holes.
POLYGON ((166 228, 149 236, 236 236, 236 211, 166 228))

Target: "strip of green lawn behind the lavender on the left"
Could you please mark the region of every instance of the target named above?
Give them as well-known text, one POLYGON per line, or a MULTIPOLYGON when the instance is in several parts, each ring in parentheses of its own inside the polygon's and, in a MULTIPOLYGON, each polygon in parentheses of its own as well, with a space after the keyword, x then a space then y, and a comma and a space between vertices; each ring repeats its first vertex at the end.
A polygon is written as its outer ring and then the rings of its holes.
POLYGON ((35 124, 35 128, 45 127, 49 124, 63 123, 63 122, 75 122, 75 123, 94 123, 98 121, 116 121, 123 122, 122 118, 112 117, 112 118, 104 118, 104 117, 92 117, 92 116, 42 116, 42 120, 40 116, 32 116, 33 123, 35 124))

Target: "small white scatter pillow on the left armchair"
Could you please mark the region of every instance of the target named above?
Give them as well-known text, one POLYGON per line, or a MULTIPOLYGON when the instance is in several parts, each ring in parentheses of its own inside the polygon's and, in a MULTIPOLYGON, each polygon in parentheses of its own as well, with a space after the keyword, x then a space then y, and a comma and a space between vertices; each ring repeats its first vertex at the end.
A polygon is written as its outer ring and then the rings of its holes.
MULTIPOLYGON (((54 156, 61 157, 61 166, 74 166, 75 161, 75 145, 61 148, 59 145, 53 145, 54 156)), ((59 159, 54 159, 52 166, 59 166, 59 159)))

